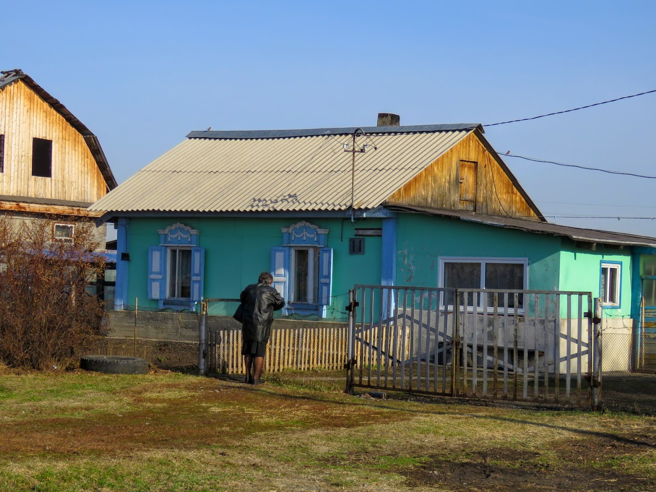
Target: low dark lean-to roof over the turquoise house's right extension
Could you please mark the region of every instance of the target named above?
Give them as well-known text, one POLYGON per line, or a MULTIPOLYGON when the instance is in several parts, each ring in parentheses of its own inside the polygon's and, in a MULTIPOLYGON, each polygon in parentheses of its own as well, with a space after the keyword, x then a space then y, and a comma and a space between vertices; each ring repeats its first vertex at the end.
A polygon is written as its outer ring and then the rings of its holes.
POLYGON ((466 220, 468 222, 477 222, 487 226, 517 229, 525 232, 536 232, 538 234, 550 234, 551 236, 569 237, 572 241, 583 243, 656 247, 656 237, 636 236, 634 234, 623 234, 621 232, 560 226, 558 224, 537 222, 535 220, 525 220, 522 218, 480 215, 473 212, 448 211, 433 209, 431 207, 409 207, 408 205, 388 204, 387 208, 393 211, 423 213, 427 215, 455 218, 466 220))

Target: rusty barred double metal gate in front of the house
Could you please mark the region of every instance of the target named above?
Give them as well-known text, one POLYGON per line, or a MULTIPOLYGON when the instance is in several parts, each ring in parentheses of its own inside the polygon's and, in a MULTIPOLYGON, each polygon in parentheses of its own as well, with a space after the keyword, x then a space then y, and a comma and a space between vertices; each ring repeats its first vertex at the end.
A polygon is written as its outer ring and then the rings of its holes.
POLYGON ((598 403, 589 292, 356 285, 348 309, 350 391, 598 403))

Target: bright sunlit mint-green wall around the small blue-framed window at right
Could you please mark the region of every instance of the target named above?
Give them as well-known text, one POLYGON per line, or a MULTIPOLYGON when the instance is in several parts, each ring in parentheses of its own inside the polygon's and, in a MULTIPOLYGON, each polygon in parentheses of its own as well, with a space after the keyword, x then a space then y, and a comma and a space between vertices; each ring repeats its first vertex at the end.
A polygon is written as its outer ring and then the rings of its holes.
POLYGON ((621 317, 631 314, 630 250, 607 248, 597 245, 595 251, 577 248, 572 241, 563 239, 560 253, 560 288, 564 291, 590 291, 592 297, 600 297, 602 261, 621 262, 620 308, 604 308, 605 317, 621 317))

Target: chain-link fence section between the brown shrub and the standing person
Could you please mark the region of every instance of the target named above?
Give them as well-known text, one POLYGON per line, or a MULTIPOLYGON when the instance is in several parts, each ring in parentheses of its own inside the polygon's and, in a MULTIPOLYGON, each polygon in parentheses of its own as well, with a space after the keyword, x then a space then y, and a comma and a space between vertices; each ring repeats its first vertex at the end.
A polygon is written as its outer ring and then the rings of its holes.
POLYGON ((162 369, 197 371, 198 317, 194 312, 124 306, 108 312, 108 334, 98 351, 140 357, 162 369))

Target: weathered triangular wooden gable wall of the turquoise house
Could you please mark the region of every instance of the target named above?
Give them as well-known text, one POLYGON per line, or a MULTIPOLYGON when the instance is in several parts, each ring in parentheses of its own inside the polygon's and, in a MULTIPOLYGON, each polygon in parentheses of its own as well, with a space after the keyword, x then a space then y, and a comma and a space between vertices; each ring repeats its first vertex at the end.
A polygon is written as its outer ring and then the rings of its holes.
POLYGON ((483 215, 515 216, 539 220, 508 174, 485 148, 475 132, 465 136, 434 163, 391 195, 389 203, 419 205, 447 210, 468 210, 460 200, 459 163, 476 165, 474 212, 483 215))

